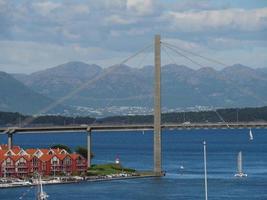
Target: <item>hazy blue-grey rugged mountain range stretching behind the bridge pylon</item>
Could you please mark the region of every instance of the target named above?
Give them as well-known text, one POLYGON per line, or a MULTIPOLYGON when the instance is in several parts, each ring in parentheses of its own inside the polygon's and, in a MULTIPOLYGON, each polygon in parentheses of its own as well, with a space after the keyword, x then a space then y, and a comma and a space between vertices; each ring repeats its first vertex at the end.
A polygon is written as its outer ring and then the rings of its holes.
MULTIPOLYGON (((267 104, 266 72, 266 69, 240 64, 220 71, 165 65, 162 67, 162 105, 167 108, 263 106, 267 104)), ((136 69, 122 65, 102 69, 82 62, 66 63, 28 76, 14 75, 36 92, 55 100, 84 86, 65 103, 87 107, 152 107, 153 76, 153 66, 136 69)))

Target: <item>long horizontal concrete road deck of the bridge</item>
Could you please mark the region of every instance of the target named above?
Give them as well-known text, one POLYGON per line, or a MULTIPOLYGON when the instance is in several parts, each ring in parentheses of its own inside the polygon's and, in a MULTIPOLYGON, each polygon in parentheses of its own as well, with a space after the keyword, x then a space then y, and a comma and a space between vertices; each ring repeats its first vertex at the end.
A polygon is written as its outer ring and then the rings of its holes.
MULTIPOLYGON (((162 129, 243 129, 267 128, 267 122, 239 122, 239 123, 166 123, 162 129)), ((104 132, 104 131, 134 131, 153 130, 153 124, 110 124, 110 125, 72 125, 72 126, 41 126, 41 127, 3 127, 0 134, 14 133, 48 133, 48 132, 104 132)))

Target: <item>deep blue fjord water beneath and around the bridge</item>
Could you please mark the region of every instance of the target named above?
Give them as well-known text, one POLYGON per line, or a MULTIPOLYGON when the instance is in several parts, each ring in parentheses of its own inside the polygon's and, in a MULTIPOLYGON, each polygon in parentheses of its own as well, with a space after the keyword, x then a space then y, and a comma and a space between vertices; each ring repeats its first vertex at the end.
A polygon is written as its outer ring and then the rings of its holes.
MULTIPOLYGON (((248 130, 190 130, 163 132, 162 178, 119 180, 45 186, 49 199, 204 199, 203 140, 207 141, 209 199, 267 199, 267 130, 255 129, 249 141, 248 130), (247 178, 234 177, 238 151, 243 152, 247 178), (183 165, 184 170, 179 170, 183 165)), ((119 155, 126 167, 140 170, 153 166, 152 132, 93 133, 94 163, 113 162, 119 155)), ((6 142, 0 137, 0 143, 6 142)), ((47 147, 64 143, 72 148, 86 145, 82 133, 16 135, 14 143, 22 147, 47 147)), ((34 199, 35 188, 0 189, 0 199, 34 199)))

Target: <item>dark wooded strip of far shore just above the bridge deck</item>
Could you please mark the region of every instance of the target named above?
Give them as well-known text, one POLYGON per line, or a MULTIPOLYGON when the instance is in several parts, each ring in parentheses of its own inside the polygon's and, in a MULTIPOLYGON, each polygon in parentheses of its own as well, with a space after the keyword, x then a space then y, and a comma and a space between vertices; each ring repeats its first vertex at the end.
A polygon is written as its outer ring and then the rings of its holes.
MULTIPOLYGON (((267 106, 256 108, 225 108, 209 111, 163 113, 162 123, 207 123, 207 122, 252 122, 267 121, 267 106)), ((0 127, 10 126, 64 126, 82 124, 147 124, 153 115, 111 116, 105 118, 71 117, 61 115, 30 116, 20 113, 1 112, 0 127), (27 119, 27 120, 26 120, 27 119), (31 119, 31 120, 29 120, 31 119), (23 124, 24 121, 30 124, 23 124)))

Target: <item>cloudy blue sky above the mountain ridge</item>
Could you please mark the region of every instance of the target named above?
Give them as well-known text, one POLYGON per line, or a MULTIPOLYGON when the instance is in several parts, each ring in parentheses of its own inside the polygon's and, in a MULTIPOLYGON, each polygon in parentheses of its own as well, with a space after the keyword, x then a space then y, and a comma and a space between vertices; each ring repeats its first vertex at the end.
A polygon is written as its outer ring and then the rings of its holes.
MULTIPOLYGON (((0 0, 0 71, 69 61, 108 67, 153 44, 155 34, 226 65, 267 67, 267 0, 0 0)), ((152 54, 127 64, 153 64, 152 54)), ((200 67, 163 48, 162 64, 174 62, 200 67)))

